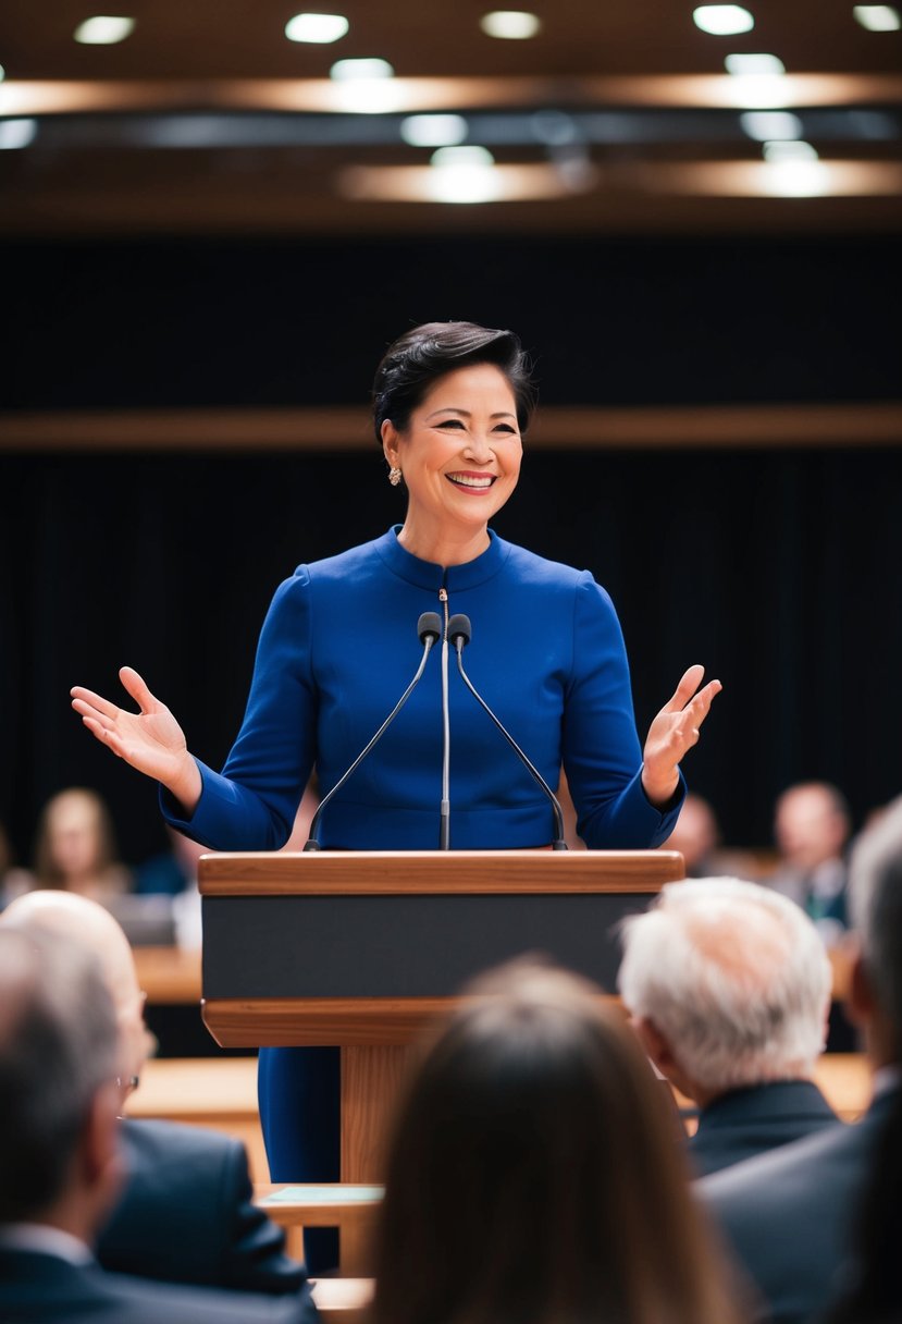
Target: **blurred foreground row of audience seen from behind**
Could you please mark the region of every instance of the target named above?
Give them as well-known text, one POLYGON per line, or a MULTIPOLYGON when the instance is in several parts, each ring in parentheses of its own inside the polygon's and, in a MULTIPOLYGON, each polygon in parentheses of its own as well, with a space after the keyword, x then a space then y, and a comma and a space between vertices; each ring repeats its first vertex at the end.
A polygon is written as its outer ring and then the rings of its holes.
MULTIPOLYGON (((394 1116, 368 1324, 902 1319, 902 798, 856 838, 848 902, 873 1074, 852 1124, 812 1080, 827 951, 774 888, 671 883, 626 920, 631 1023, 538 957, 463 989, 394 1116), (692 1139, 655 1067, 697 1103, 692 1139)), ((58 890, 12 902, 0 1317, 313 1324, 239 1147, 122 1120, 143 1053, 134 959, 108 911, 58 890)))

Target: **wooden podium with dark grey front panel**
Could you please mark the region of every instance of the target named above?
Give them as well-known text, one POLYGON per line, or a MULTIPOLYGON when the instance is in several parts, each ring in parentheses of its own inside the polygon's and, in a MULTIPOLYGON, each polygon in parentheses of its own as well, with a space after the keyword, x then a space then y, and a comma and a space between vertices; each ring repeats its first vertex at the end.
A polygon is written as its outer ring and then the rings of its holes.
POLYGON ((224 1047, 341 1050, 341 1180, 382 1177, 410 1043, 525 952, 614 993, 616 923, 684 876, 677 851, 204 855, 202 1014, 224 1047))

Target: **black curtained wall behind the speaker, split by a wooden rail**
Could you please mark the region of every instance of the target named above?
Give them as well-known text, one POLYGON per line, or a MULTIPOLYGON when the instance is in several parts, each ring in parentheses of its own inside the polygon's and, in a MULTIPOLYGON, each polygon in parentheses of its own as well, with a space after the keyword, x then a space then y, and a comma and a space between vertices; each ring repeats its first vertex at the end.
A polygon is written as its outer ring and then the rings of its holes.
MULTIPOLYGON (((407 326, 511 326, 545 404, 898 400, 894 237, 473 237, 7 244, 3 409, 362 404, 407 326)), ((902 789, 898 454, 529 451, 495 527, 612 593, 639 727, 682 669, 725 685, 685 764, 727 838, 776 793, 841 785, 857 822, 902 789)), ((272 589, 384 531, 378 450, 0 451, 0 820, 21 858, 44 800, 89 784, 123 854, 163 845, 152 786, 67 691, 130 662, 221 761, 272 589)), ((473 622, 477 628, 477 622, 473 622)), ((403 678, 399 678, 399 688, 403 678)))

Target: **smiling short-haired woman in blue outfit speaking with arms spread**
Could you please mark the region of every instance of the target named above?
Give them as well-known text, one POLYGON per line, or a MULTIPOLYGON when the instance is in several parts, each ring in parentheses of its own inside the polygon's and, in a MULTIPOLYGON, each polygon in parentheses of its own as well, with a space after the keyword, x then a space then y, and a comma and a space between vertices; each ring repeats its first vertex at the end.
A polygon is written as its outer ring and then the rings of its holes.
MULTIPOLYGON (((192 757, 169 710, 130 667, 119 674, 139 712, 81 687, 71 691, 73 707, 114 753, 160 781, 172 826, 217 850, 271 850, 287 839, 313 765, 324 797, 394 706, 421 657, 421 613, 440 610, 447 620, 466 612, 473 683, 552 786, 563 765, 586 845, 661 843, 682 798, 680 760, 721 686, 700 688, 702 667, 690 667, 655 718, 643 757, 608 596, 587 572, 545 561, 489 530, 517 485, 534 408, 520 342, 466 322, 415 327, 384 356, 373 400, 389 481, 407 491, 405 523, 300 565, 278 589, 222 773, 192 757)), ((452 683, 448 699, 451 845, 548 845, 553 821, 541 789, 463 685, 452 683)), ((321 846, 435 847, 442 730, 435 662, 327 806, 321 846)), ((336 1057, 261 1054, 274 1181, 337 1176, 336 1057), (311 1157, 328 1119, 332 1165, 311 1157)))

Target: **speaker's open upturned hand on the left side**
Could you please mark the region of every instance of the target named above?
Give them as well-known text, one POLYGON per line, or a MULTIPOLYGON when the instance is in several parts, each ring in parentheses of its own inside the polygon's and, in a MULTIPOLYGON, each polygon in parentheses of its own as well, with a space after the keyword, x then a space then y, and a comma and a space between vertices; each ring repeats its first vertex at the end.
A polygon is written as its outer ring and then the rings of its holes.
POLYGON ((70 691, 73 708, 101 744, 132 768, 163 782, 190 818, 201 797, 201 775, 188 752, 181 727, 165 703, 153 698, 138 671, 124 666, 119 679, 140 712, 126 712, 81 685, 70 691))

